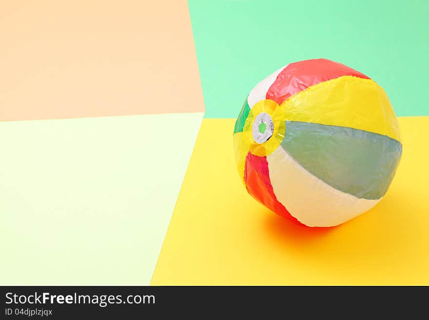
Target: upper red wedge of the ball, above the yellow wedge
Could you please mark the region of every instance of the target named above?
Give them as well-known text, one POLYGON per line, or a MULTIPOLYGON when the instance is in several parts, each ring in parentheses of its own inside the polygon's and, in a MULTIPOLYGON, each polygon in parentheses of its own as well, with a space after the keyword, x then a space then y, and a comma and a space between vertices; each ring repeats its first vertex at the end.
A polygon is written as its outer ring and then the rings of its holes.
POLYGON ((291 63, 277 75, 267 91, 266 98, 274 100, 280 105, 293 94, 317 83, 343 75, 369 79, 368 76, 344 64, 328 59, 312 59, 291 63))

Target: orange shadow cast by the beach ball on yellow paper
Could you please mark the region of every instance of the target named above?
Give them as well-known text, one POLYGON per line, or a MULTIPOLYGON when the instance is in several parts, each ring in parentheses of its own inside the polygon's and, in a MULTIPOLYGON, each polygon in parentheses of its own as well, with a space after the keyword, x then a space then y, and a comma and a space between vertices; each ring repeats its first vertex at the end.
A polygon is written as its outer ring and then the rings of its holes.
POLYGON ((409 255, 416 232, 420 232, 413 215, 402 214, 415 204, 416 199, 409 190, 392 192, 369 211, 332 227, 300 226, 264 209, 261 214, 265 220, 261 227, 267 238, 287 251, 305 255, 317 247, 317 250, 330 250, 331 255, 341 255, 350 261, 362 256, 397 261, 409 255))

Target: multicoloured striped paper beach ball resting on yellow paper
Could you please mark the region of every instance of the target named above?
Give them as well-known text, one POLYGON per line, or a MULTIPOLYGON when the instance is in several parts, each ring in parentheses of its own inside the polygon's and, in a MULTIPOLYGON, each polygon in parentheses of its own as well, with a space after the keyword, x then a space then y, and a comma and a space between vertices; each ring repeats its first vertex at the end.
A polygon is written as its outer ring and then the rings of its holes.
POLYGON ((236 120, 234 149, 247 191, 305 226, 336 226, 374 207, 402 154, 383 88, 327 59, 259 82, 236 120))

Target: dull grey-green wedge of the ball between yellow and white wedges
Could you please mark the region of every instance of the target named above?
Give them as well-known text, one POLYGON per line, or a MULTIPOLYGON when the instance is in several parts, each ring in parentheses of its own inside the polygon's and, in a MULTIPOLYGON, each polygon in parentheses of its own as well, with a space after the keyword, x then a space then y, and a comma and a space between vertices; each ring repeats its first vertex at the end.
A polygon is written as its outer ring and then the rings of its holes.
POLYGON ((402 154, 386 135, 298 121, 286 121, 281 146, 333 188, 369 200, 386 193, 402 154))

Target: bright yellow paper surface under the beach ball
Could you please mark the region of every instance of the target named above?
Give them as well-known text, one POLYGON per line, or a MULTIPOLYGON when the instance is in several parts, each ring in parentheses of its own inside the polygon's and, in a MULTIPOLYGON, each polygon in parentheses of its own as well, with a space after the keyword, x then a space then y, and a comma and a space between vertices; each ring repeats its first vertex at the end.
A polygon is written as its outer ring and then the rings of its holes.
POLYGON ((429 117, 399 125, 403 157, 380 203, 308 228, 246 192, 234 119, 204 119, 151 284, 429 284, 429 117))

